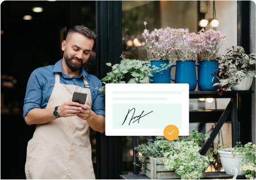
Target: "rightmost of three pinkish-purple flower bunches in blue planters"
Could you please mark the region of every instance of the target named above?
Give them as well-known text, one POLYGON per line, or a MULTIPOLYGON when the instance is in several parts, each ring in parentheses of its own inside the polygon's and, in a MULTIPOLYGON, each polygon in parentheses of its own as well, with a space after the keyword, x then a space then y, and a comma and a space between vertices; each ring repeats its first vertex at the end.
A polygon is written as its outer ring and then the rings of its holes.
POLYGON ((220 60, 220 47, 227 39, 226 36, 227 35, 223 35, 221 31, 205 31, 204 28, 202 28, 197 35, 198 46, 201 48, 199 52, 200 60, 220 60))

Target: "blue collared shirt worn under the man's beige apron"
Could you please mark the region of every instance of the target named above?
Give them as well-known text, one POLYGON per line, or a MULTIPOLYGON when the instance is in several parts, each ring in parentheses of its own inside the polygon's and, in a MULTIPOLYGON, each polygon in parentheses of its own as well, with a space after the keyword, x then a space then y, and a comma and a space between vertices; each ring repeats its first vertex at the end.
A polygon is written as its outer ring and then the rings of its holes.
MULTIPOLYGON (((55 72, 60 72, 60 83, 64 85, 76 85, 84 88, 82 76, 86 76, 92 95, 91 110, 97 115, 105 116, 104 95, 96 87, 101 87, 101 81, 94 75, 88 74, 82 68, 79 76, 69 77, 62 72, 62 60, 55 65, 35 69, 27 82, 26 96, 23 106, 23 118, 34 108, 46 108, 55 85, 55 72)), ((61 104, 59 104, 61 105, 61 104)))

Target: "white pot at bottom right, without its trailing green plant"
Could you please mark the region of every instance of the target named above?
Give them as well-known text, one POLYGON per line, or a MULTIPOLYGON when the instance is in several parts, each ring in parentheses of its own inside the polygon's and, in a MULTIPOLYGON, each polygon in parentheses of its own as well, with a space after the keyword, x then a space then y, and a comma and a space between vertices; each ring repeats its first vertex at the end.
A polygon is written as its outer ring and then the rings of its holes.
MULTIPOLYGON (((234 150, 233 148, 229 148, 229 149, 234 150)), ((232 168, 238 169, 238 175, 246 174, 245 171, 241 170, 241 165, 240 165, 240 162, 242 161, 243 157, 245 157, 245 153, 243 154, 237 153, 237 156, 235 157, 233 157, 232 152, 218 150, 218 153, 220 153, 221 164, 225 169, 226 174, 235 175, 235 171, 233 171, 233 173, 231 172, 232 168)), ((247 164, 247 158, 245 158, 245 160, 243 161, 243 164, 247 164)))

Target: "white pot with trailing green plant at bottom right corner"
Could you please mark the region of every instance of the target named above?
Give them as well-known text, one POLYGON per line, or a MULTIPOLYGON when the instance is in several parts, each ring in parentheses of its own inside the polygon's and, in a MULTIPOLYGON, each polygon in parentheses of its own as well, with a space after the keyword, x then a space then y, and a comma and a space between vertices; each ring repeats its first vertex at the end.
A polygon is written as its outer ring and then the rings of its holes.
POLYGON ((238 175, 246 174, 245 170, 247 169, 242 169, 242 167, 248 162, 255 162, 256 160, 256 147, 252 143, 242 145, 239 142, 233 148, 218 144, 217 149, 214 149, 213 153, 220 154, 221 164, 225 169, 225 173, 232 175, 235 174, 231 170, 233 168, 238 169, 238 175))

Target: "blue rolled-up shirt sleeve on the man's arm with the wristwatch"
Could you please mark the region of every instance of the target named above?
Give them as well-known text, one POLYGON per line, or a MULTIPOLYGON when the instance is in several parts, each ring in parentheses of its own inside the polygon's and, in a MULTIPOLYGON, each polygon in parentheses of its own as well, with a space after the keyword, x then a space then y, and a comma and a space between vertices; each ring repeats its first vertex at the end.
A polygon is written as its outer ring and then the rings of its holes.
POLYGON ((23 106, 23 118, 29 111, 34 108, 41 108, 42 104, 42 84, 37 70, 31 73, 29 81, 27 82, 26 95, 23 106))

